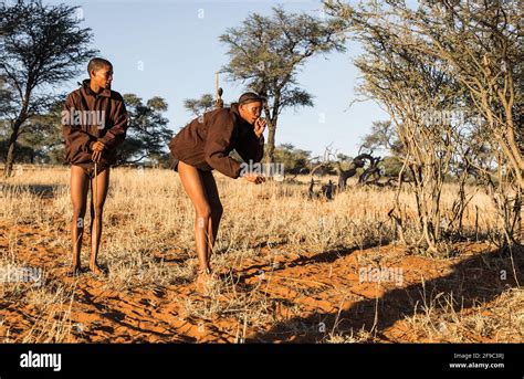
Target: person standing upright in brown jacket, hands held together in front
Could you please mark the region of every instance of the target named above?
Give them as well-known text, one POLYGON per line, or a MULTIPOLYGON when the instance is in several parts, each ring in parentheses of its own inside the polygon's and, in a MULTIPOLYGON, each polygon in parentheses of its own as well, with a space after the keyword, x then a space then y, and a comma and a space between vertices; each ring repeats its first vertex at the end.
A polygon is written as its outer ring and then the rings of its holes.
POLYGON ((71 199, 73 203, 73 264, 70 275, 81 272, 80 252, 84 233, 87 191, 91 185, 91 256, 90 270, 103 273, 97 264, 102 236, 102 214, 109 168, 116 162, 116 147, 124 141, 127 112, 122 95, 111 90, 113 64, 95 57, 87 65, 90 78, 66 98, 62 112, 65 159, 71 164, 71 199))

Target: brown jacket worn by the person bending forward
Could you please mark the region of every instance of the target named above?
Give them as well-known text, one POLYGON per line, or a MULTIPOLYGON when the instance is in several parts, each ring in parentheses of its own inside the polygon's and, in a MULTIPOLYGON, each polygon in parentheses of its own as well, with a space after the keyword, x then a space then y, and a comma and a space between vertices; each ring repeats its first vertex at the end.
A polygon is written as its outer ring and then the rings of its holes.
POLYGON ((229 108, 205 113, 185 126, 170 141, 171 155, 205 171, 217 169, 231 178, 240 176, 240 162, 229 156, 235 149, 245 162, 259 162, 264 137, 240 117, 237 103, 229 108))

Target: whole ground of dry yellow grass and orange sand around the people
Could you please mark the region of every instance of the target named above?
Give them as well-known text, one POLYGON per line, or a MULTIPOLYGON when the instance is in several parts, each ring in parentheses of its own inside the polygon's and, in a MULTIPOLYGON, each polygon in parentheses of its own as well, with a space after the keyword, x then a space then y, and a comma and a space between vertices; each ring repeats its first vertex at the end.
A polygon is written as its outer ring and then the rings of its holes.
MULTIPOLYGON (((308 201, 307 178, 254 186, 216 173, 224 217, 212 266, 221 278, 201 296, 192 292, 193 209, 175 172, 112 171, 101 250, 109 275, 74 280, 60 271, 71 262, 69 168, 15 173, 1 183, 0 264, 43 269, 44 281, 2 283, 3 341, 523 340, 523 293, 509 260, 483 241, 455 244, 454 255, 410 255, 391 242, 391 189, 353 182, 333 201, 308 201), (402 267, 402 286, 360 283, 363 266, 402 267), (480 284, 460 282, 478 266, 480 284), (443 289, 426 293, 428 281, 443 289)), ((454 190, 446 186, 444 210, 454 190)), ((497 222, 490 198, 469 191, 464 227, 478 218, 486 234, 497 222)), ((415 214, 412 196, 401 199, 415 214)))

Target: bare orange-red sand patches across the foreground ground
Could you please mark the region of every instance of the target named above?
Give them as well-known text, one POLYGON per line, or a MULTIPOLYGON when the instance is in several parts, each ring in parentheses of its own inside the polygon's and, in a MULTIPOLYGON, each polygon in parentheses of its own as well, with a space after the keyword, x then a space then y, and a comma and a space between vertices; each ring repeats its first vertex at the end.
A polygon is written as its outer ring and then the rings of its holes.
MULTIPOLYGON (((72 286, 74 280, 63 275, 69 253, 46 246, 54 233, 67 231, 36 230, 32 225, 17 228, 17 260, 45 269, 45 285, 62 283, 72 286)), ((0 225, 1 250, 8 249, 7 235, 13 232, 12 227, 0 225)), ((230 273, 237 282, 234 289, 229 286, 219 297, 220 302, 228 302, 235 294, 256 292, 251 294, 259 302, 265 301, 263 304, 270 309, 270 319, 254 326, 252 319, 245 319, 243 309, 228 310, 206 320, 186 315, 180 301, 211 301, 196 293, 192 283, 118 292, 104 289, 107 287, 106 280, 91 274, 84 274, 77 281, 71 305, 57 305, 56 309, 67 310, 71 307, 72 325, 83 326, 82 329, 73 327, 65 341, 233 343, 242 335, 248 343, 322 341, 332 330, 348 334, 353 328, 356 334, 363 327, 370 330, 374 324, 376 333, 368 338, 369 341, 429 341, 417 335, 417 330, 411 330, 404 320, 406 316, 413 315, 417 302, 419 309, 423 303, 422 278, 428 298, 451 291, 455 298, 463 298, 463 314, 472 312, 475 302, 490 304, 503 288, 515 285, 511 274, 504 282, 496 271, 489 269, 493 266, 490 262, 496 259, 497 253, 486 244, 463 243, 457 249, 460 254, 448 260, 410 255, 400 246, 387 245, 301 256, 287 254, 274 261, 262 250, 260 256, 244 260, 241 266, 234 267, 230 273), (402 286, 395 283, 360 283, 359 260, 369 265, 374 259, 379 259, 381 266, 402 267, 402 286), (265 272, 263 280, 260 277, 261 270, 265 272)), ((175 253, 157 255, 168 266, 188 259, 175 253)), ((7 296, 0 302, 0 340, 6 340, 9 330, 10 340, 22 341, 35 322, 50 317, 41 314, 34 305, 25 304, 22 298, 7 296)), ((460 304, 457 310, 460 310, 460 304)), ((52 324, 53 319, 50 322, 52 324)), ((493 341, 493 338, 474 331, 468 338, 493 341)))

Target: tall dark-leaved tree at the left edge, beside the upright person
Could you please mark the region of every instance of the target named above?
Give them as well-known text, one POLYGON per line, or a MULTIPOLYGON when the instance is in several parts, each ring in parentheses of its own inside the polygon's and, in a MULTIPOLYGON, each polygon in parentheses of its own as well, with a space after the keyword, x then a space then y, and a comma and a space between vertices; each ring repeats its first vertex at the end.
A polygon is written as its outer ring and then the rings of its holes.
POLYGON ((78 27, 77 7, 43 6, 40 0, 0 7, 0 76, 12 94, 4 115, 9 129, 4 175, 9 177, 20 134, 30 130, 29 120, 60 97, 40 90, 74 77, 96 51, 88 49, 91 29, 78 27))

